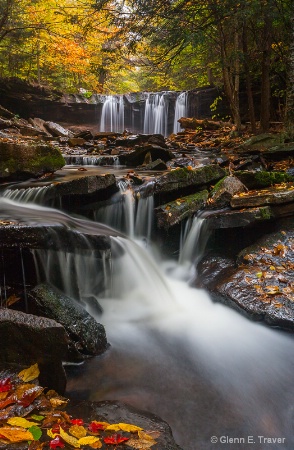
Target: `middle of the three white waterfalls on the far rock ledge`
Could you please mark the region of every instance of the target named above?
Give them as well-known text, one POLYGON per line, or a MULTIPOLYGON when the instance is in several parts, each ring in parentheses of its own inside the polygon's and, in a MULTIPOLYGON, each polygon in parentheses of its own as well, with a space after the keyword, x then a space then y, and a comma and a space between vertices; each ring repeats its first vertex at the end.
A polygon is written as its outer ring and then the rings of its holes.
POLYGON ((145 103, 144 133, 167 136, 168 99, 166 93, 148 94, 145 103))

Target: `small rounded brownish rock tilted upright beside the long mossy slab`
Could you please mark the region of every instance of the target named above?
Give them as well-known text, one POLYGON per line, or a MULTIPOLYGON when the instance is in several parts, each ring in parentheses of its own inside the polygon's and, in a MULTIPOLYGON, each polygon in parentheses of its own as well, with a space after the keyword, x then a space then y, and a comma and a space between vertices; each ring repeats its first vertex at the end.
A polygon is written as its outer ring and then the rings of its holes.
POLYGON ((246 187, 238 178, 234 176, 225 177, 215 185, 210 197, 210 206, 215 208, 229 206, 233 195, 246 190, 246 187))

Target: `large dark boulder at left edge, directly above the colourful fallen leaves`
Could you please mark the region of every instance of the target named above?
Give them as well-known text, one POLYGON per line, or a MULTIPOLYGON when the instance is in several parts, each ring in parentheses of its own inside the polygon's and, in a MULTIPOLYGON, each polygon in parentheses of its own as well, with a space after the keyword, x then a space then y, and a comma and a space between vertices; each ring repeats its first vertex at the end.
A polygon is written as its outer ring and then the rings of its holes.
POLYGON ((66 385, 62 361, 68 342, 64 328, 54 320, 19 311, 0 309, 0 368, 21 370, 38 363, 40 382, 63 393, 66 385))

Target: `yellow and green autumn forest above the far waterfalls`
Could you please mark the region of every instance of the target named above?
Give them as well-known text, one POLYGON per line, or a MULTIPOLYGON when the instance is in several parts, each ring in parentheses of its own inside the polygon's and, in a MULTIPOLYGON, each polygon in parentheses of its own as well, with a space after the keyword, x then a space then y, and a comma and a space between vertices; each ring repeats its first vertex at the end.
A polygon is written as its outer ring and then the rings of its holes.
POLYGON ((241 127, 294 122, 292 0, 0 0, 0 77, 63 92, 216 86, 241 127), (258 105, 256 103, 258 98, 258 105))

